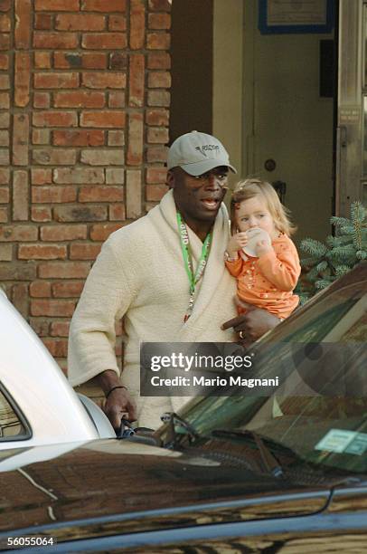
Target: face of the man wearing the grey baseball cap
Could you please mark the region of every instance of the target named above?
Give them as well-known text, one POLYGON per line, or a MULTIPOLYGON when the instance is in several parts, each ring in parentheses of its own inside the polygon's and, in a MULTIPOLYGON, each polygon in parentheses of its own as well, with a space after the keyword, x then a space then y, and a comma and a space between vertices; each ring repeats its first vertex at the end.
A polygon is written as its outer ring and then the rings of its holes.
POLYGON ((214 167, 193 177, 181 167, 168 172, 174 201, 187 224, 213 223, 227 191, 228 167, 214 167))

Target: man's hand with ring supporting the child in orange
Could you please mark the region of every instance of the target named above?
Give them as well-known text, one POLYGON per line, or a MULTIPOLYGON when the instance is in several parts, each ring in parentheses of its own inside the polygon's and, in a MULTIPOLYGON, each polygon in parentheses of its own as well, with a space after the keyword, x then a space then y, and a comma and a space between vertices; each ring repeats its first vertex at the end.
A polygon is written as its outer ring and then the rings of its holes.
POLYGON ((267 310, 261 310, 252 306, 247 302, 240 301, 235 297, 235 302, 242 310, 246 310, 237 318, 225 321, 222 324, 221 329, 230 329, 231 327, 236 333, 240 334, 240 341, 244 346, 249 346, 252 342, 259 339, 268 330, 274 329, 279 323, 277 316, 268 313, 267 310))

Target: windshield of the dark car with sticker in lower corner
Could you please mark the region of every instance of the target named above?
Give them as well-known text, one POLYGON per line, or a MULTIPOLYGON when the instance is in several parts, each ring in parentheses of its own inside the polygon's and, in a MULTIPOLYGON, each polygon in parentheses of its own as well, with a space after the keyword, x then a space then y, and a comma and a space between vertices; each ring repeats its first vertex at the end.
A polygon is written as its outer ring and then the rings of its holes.
POLYGON ((366 290, 364 280, 322 294, 259 341, 256 377, 287 367, 272 396, 196 398, 181 416, 201 436, 250 430, 306 463, 367 473, 366 290))

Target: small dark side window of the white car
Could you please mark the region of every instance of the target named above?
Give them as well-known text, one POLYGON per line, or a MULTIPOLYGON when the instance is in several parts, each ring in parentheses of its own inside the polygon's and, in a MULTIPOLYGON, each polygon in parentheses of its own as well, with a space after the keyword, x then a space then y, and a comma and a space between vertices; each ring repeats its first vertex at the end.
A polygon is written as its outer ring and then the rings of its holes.
POLYGON ((31 433, 20 410, 0 387, 0 442, 29 438, 31 433))

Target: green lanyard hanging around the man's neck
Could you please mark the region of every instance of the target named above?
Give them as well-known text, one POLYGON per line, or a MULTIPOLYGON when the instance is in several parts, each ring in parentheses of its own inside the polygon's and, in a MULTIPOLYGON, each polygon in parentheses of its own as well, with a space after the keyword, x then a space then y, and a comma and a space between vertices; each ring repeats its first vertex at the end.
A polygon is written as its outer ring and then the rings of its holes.
POLYGON ((186 225, 184 224, 181 214, 177 212, 177 224, 178 231, 180 233, 181 249, 184 256, 184 269, 186 270, 187 276, 190 283, 190 300, 189 306, 184 314, 184 323, 189 319, 193 312, 193 304, 195 301, 195 288, 196 284, 201 280, 203 272, 205 271, 205 266, 209 257, 209 250, 211 246, 212 235, 208 233, 202 244, 202 253, 200 255, 200 260, 196 268, 196 272, 193 273, 193 257, 190 251, 190 241, 189 234, 187 233, 186 225))

